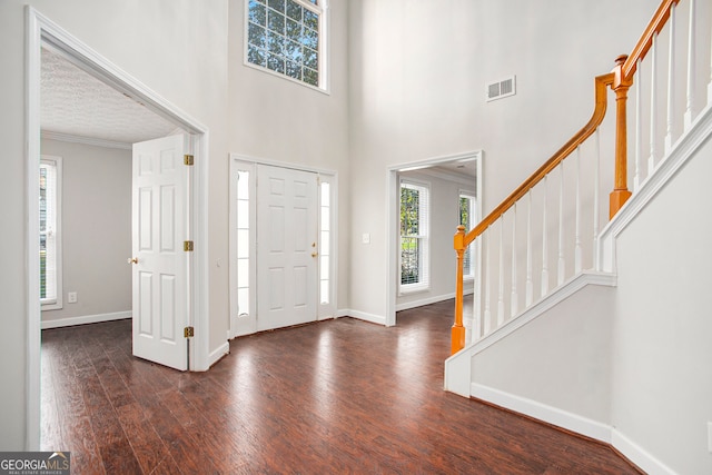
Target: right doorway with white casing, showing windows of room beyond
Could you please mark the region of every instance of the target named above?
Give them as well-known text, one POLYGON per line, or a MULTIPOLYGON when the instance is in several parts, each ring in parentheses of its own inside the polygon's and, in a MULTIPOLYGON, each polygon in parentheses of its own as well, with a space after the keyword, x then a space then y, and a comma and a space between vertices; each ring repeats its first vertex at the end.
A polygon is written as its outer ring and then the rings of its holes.
MULTIPOLYGON (((461 219, 471 228, 482 217, 482 156, 473 151, 388 168, 386 326, 396 324, 398 310, 454 296, 452 238, 461 219)), ((475 248, 471 281, 477 263, 475 248)))

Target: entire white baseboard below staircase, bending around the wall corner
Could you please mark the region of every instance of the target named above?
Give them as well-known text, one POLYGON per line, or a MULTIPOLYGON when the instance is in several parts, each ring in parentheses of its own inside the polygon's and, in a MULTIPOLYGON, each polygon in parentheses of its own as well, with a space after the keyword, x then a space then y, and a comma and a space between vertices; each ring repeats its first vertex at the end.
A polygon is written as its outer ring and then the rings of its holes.
POLYGON ((673 469, 609 424, 477 383, 472 384, 469 392, 473 398, 607 444, 645 473, 675 475, 673 469))

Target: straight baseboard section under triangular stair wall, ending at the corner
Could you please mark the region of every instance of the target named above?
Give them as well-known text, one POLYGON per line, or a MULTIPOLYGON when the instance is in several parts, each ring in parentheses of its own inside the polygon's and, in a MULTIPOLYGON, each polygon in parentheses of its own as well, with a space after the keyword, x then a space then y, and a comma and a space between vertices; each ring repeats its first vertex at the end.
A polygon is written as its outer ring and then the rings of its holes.
POLYGON ((477 383, 472 384, 469 392, 473 397, 534 417, 535 419, 565 428, 566 431, 572 431, 606 444, 611 444, 612 442, 612 427, 607 424, 477 383))

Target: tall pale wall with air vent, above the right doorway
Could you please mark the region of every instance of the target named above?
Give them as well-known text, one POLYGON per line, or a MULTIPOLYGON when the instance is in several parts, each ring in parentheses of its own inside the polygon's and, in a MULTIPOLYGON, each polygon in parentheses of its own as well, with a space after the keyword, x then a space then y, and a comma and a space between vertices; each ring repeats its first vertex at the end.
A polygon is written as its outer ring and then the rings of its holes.
MULTIPOLYGON (((483 150, 486 215, 589 120, 657 0, 349 3, 352 307, 385 316, 389 166, 483 150), (517 95, 485 102, 516 75, 517 95)), ((605 171, 604 171, 605 172, 605 171)))

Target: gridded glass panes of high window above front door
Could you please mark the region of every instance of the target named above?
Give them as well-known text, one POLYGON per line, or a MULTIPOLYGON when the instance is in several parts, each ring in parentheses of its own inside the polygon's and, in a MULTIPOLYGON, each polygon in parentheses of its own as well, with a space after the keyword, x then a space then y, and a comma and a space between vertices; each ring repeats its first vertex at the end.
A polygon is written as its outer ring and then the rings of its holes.
POLYGON ((247 0, 246 63, 326 89, 326 0, 247 0))

